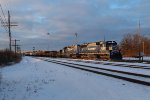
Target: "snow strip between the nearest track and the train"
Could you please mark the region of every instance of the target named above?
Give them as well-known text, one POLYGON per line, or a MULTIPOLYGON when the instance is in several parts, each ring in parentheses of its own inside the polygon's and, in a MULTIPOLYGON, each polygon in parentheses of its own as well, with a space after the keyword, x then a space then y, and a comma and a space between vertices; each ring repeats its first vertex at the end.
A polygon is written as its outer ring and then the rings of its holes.
MULTIPOLYGON (((39 57, 41 58, 41 57, 39 57)), ((105 69, 112 69, 112 70, 118 70, 118 71, 124 71, 124 72, 132 72, 132 73, 138 73, 138 74, 145 74, 150 75, 150 69, 140 69, 140 68, 130 68, 130 67, 121 67, 121 66, 115 66, 115 65, 103 65, 103 64, 95 64, 92 62, 100 62, 100 63, 114 63, 114 64, 127 64, 127 65, 139 65, 139 66, 145 66, 146 68, 150 68, 150 64, 143 64, 143 63, 127 63, 127 62, 110 62, 110 61, 95 61, 95 60, 81 60, 81 59, 66 59, 66 58, 41 58, 45 60, 57 60, 57 61, 64 61, 64 62, 71 62, 75 64, 82 64, 82 65, 88 65, 92 67, 99 67, 99 68, 105 68, 105 69)))

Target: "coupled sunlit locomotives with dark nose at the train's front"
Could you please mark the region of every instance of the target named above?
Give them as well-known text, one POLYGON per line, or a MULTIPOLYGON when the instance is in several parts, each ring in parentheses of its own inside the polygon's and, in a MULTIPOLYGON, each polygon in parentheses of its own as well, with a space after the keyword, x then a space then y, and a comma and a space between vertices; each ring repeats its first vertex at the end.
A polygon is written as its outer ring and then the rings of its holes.
POLYGON ((116 41, 98 41, 80 45, 71 45, 60 50, 58 55, 60 57, 81 59, 122 59, 122 54, 116 41))

